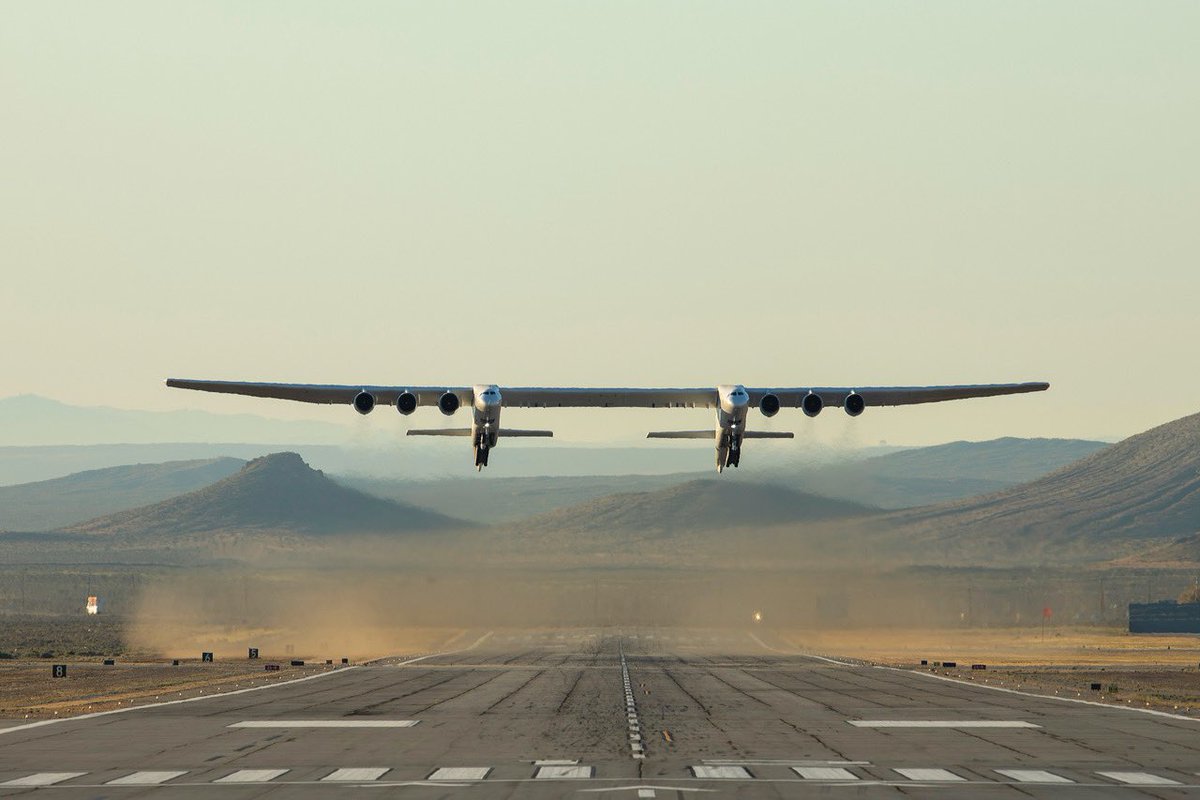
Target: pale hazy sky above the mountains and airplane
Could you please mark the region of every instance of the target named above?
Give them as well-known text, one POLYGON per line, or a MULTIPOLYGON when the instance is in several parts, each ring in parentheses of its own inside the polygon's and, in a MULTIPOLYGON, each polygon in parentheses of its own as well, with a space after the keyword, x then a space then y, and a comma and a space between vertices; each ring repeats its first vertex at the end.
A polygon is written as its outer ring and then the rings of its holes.
POLYGON ((1133 433, 1200 410, 1198 30, 1192 1, 2 2, 0 396, 332 420, 160 381, 1045 379, 772 426, 1133 433))

